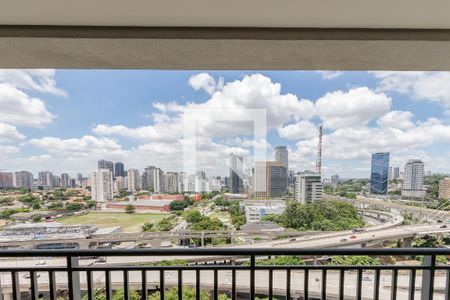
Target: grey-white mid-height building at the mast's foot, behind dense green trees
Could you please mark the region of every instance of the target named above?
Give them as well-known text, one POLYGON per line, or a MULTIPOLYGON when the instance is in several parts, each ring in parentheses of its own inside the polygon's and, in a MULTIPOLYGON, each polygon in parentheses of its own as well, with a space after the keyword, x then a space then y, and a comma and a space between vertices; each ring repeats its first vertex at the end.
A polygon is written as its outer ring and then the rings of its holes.
POLYGON ((295 177, 295 200, 302 204, 322 200, 320 174, 305 171, 295 177))

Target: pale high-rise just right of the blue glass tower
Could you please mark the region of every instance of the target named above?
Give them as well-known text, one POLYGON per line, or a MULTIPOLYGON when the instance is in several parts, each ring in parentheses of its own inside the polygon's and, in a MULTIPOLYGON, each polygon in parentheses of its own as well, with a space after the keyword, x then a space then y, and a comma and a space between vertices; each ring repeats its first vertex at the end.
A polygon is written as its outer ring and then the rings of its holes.
POLYGON ((402 184, 402 197, 424 198, 426 191, 423 187, 424 164, 420 159, 410 159, 405 164, 402 184))

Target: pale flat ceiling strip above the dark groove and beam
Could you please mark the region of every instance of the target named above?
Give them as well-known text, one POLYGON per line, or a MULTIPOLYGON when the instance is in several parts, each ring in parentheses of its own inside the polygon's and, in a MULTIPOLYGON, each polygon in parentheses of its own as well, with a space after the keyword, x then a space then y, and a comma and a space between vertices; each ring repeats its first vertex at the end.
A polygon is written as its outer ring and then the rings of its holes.
POLYGON ((2 0, 0 25, 450 29, 449 0, 2 0))

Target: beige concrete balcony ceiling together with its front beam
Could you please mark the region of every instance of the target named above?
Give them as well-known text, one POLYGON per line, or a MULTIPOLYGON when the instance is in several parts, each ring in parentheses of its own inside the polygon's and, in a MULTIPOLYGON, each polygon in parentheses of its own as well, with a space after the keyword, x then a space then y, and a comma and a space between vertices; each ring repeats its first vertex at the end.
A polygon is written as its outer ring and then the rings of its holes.
POLYGON ((1 0, 0 68, 450 70, 449 0, 1 0))

